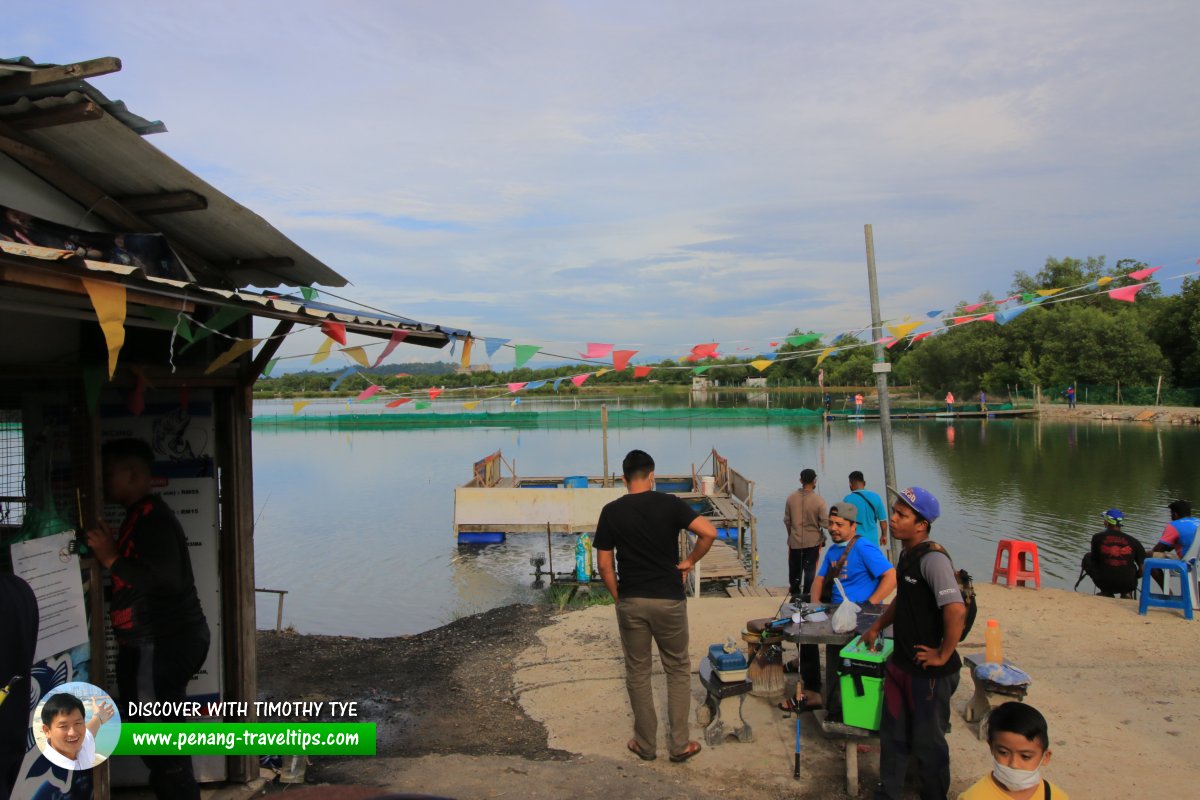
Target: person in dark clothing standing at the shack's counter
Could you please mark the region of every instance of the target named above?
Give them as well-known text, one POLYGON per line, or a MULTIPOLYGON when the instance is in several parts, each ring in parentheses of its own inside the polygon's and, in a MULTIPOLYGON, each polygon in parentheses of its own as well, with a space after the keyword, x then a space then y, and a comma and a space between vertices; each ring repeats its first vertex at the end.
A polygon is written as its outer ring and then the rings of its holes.
MULTIPOLYGON (((149 444, 109 441, 102 461, 104 499, 126 510, 115 537, 103 521, 88 531, 96 560, 113 577, 109 616, 118 644, 118 691, 126 704, 181 702, 209 651, 209 626, 196 594, 187 539, 170 507, 150 494, 149 444)), ((191 757, 142 760, 160 800, 199 800, 191 757)))

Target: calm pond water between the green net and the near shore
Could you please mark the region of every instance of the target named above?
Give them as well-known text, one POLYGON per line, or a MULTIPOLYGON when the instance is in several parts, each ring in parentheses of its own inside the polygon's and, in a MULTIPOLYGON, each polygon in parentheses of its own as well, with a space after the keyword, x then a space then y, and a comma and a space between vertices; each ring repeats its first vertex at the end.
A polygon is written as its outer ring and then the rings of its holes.
MULTIPOLYGON (((1044 585, 1069 588, 1100 511, 1124 510, 1126 529, 1150 545, 1168 501, 1200 499, 1194 428, 926 420, 896 422, 894 433, 899 481, 938 495, 935 537, 979 581, 991 578, 996 541, 1016 537, 1038 543, 1044 585)), ((690 471, 716 447, 754 480, 772 585, 787 579, 782 506, 800 469, 817 470, 827 500, 841 499, 854 469, 882 492, 874 422, 614 428, 610 470, 632 447, 662 473, 690 471)), ((535 599, 529 559, 547 552, 545 535, 460 547, 451 533, 454 487, 497 449, 522 475, 601 470, 599 428, 256 431, 257 585, 290 593, 284 624, 359 636, 414 633, 535 599)), ((556 571, 571 569, 574 548, 574 537, 553 537, 556 571)), ((259 618, 274 621, 274 596, 263 596, 259 618)))

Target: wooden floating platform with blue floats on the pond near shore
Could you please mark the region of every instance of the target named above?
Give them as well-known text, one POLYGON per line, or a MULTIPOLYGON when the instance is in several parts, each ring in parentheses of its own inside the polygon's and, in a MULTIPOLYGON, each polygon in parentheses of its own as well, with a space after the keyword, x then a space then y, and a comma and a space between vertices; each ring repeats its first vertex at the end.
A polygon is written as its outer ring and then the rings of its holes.
MULTIPOLYGON (((659 492, 682 498, 718 530, 718 541, 692 573, 696 590, 701 581, 755 585, 758 527, 754 481, 730 467, 715 450, 698 470, 694 465, 690 474, 655 473, 654 477, 659 492)), ((470 481, 455 487, 454 533, 460 545, 498 543, 512 534, 544 534, 551 553, 553 534, 594 534, 601 509, 624 494, 625 486, 616 475, 520 476, 515 462, 505 461, 497 450, 475 462, 470 481)), ((679 533, 680 558, 694 540, 692 534, 679 533)), ((553 563, 550 573, 552 581, 558 577, 553 563)))

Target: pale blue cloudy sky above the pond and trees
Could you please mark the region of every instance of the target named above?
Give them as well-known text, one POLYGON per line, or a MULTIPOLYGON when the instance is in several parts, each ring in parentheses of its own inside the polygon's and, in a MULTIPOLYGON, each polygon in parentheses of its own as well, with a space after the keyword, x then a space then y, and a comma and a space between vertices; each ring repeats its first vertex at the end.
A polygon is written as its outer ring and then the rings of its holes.
POLYGON ((120 58, 92 83, 336 295, 660 357, 865 325, 864 223, 884 318, 1048 257, 1196 269, 1198 24, 1192 0, 92 0, 6 11, 4 55, 120 58))

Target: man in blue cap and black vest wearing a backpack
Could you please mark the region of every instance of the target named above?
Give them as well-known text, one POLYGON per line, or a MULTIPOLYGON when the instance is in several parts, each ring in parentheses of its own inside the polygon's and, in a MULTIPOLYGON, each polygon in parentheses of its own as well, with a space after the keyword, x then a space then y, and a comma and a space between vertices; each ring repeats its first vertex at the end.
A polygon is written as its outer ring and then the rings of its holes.
POLYGON ((896 596, 863 634, 874 646, 893 626, 895 648, 886 664, 880 724, 880 786, 876 800, 900 800, 908 758, 917 759, 923 800, 946 800, 950 789, 950 697, 962 662, 956 648, 967 620, 954 564, 929 541, 941 505, 919 486, 898 493, 892 535, 902 546, 896 564, 896 596))

